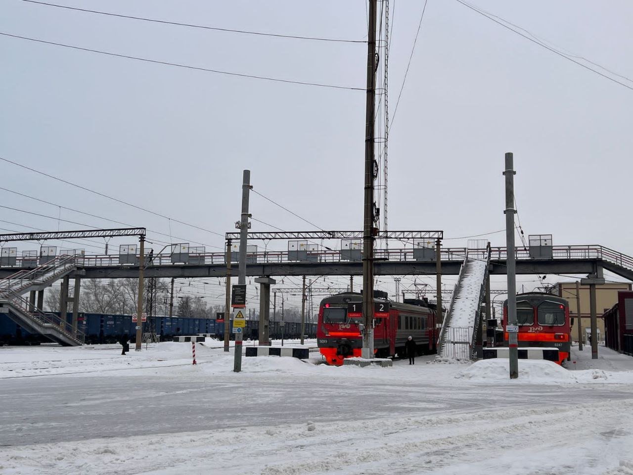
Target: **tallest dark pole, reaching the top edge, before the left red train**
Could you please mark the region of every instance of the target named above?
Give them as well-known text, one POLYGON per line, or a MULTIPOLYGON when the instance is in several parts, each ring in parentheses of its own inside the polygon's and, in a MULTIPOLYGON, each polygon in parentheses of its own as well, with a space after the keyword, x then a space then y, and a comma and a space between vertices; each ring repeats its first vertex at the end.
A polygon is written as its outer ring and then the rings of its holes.
POLYGON ((373 181, 376 167, 375 139, 375 88, 376 88, 376 11, 377 0, 369 0, 367 30, 367 104, 365 109, 365 195, 363 210, 363 358, 373 358, 373 236, 374 206, 373 181))

